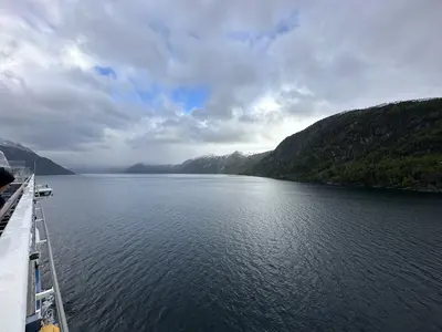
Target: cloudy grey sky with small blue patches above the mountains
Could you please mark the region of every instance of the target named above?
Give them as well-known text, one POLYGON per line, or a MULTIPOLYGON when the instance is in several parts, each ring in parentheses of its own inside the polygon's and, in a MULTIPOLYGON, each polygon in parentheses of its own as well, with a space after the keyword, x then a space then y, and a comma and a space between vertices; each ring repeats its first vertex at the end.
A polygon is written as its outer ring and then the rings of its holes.
POLYGON ((0 137, 64 166, 274 148, 442 95, 440 0, 0 0, 0 137))

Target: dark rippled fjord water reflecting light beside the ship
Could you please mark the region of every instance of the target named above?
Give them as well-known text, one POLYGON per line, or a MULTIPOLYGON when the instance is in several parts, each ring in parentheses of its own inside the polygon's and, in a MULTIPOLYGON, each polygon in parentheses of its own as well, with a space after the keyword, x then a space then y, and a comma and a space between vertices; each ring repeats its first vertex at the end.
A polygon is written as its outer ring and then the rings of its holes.
POLYGON ((222 175, 41 177, 75 331, 440 331, 442 199, 222 175))

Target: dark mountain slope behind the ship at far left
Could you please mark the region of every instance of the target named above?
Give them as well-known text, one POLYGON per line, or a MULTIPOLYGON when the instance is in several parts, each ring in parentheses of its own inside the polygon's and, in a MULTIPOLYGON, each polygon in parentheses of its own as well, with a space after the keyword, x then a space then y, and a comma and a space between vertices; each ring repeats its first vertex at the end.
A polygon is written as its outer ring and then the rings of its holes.
POLYGON ((4 153, 4 156, 8 158, 9 162, 22 160, 25 162, 27 167, 32 169, 34 168, 34 162, 35 162, 36 175, 74 174, 73 172, 55 164, 51 159, 39 156, 32 149, 19 143, 14 143, 7 139, 0 139, 0 151, 4 153))

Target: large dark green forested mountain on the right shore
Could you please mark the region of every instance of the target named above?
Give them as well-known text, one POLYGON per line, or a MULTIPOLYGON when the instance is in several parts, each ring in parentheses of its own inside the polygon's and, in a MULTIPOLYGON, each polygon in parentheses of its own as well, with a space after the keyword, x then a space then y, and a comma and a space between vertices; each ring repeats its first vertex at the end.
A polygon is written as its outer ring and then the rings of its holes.
POLYGON ((243 174, 442 191, 442 98, 344 112, 286 137, 243 174))

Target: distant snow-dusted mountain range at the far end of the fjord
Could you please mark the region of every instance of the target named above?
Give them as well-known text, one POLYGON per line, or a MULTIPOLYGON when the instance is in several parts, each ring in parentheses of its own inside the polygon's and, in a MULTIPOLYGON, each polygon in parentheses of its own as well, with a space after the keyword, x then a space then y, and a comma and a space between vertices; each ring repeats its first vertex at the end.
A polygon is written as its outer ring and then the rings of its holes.
POLYGON ((261 160, 266 154, 244 155, 234 152, 224 156, 201 156, 178 165, 135 164, 126 173, 135 174, 240 174, 261 160))

